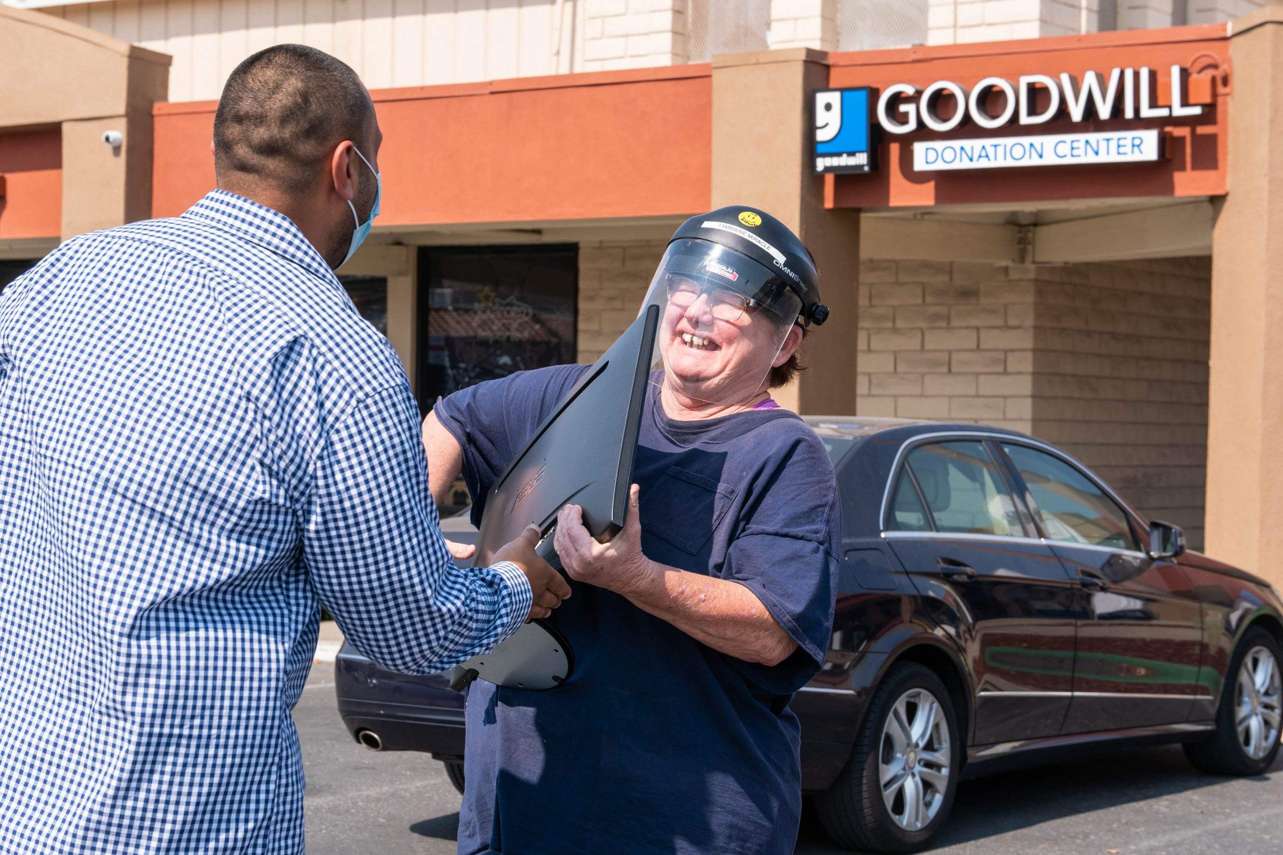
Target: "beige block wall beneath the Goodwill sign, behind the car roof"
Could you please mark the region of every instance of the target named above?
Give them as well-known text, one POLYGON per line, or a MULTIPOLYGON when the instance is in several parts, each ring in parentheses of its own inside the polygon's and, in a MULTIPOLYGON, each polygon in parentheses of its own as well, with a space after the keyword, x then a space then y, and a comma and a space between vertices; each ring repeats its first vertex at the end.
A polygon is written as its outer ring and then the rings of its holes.
POLYGON ((1032 433, 1202 544, 1206 259, 869 260, 860 290, 858 414, 1032 433))

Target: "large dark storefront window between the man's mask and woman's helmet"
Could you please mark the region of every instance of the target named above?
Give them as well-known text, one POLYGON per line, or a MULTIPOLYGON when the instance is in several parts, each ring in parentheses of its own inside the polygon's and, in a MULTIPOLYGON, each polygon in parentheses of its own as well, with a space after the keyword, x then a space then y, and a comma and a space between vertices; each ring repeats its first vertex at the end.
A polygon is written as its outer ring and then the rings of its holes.
POLYGON ((418 399, 575 361, 579 247, 429 247, 420 256, 418 399))

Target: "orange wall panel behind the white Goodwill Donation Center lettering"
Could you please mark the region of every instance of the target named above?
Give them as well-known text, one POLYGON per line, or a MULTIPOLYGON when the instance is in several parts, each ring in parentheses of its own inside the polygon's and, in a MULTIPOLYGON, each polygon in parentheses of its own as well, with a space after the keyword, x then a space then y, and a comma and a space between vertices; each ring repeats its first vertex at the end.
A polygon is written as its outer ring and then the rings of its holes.
MULTIPOLYGON (((1210 95, 1211 106, 1200 117, 1128 122, 1123 119, 1070 122, 1055 119, 1046 124, 1008 124, 993 131, 964 124, 943 135, 920 129, 903 136, 883 132, 878 169, 869 174, 828 176, 825 203, 830 208, 916 206, 967 203, 1056 201, 1071 199, 1128 196, 1215 196, 1225 192, 1227 129, 1230 87, 1221 78, 1229 69, 1229 38, 1224 24, 1180 27, 1175 29, 1125 31, 1066 36, 1034 41, 983 45, 911 47, 869 53, 834 54, 829 85, 833 87, 911 83, 919 88, 949 79, 970 88, 988 76, 1005 77, 1012 83, 1020 74, 1058 77, 1067 72, 1082 79, 1094 69, 1107 74, 1116 65, 1148 65, 1159 69, 1160 83, 1166 71, 1180 64, 1205 69, 1200 83, 1210 95), (915 140, 1002 137, 1032 133, 1071 133, 1091 131, 1161 127, 1166 131, 1169 158, 1157 163, 1024 167, 1015 169, 976 169, 915 173, 911 144, 915 140)), ((1156 101, 1170 103, 1170 86, 1159 88, 1156 101)), ((874 109, 876 101, 870 104, 874 109)), ((871 117, 872 118, 872 117, 871 117)), ((876 123, 876 118, 872 118, 876 123)))

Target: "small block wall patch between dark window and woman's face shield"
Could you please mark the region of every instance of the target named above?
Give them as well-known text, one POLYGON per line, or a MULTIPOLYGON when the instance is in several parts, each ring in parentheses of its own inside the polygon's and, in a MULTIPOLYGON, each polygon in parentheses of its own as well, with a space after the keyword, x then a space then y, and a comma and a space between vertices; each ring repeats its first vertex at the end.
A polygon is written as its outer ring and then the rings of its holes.
POLYGON ((666 246, 667 241, 579 245, 579 361, 597 361, 636 319, 666 246))

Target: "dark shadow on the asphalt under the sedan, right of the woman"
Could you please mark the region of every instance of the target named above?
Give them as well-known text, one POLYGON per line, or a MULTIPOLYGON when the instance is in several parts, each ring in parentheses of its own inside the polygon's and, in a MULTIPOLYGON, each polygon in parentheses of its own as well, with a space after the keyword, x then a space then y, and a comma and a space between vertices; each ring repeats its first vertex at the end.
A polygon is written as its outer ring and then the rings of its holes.
MULTIPOLYGON (((1232 781, 1268 783, 1283 774, 1283 754, 1256 778, 1218 778, 1193 769, 1179 746, 1102 750, 1073 763, 964 781, 937 847, 980 841, 1046 822, 1215 787, 1232 781)), ((824 836, 813 811, 803 817, 798 851, 840 852, 824 836)), ((969 850, 970 851, 970 850, 969 850)))

